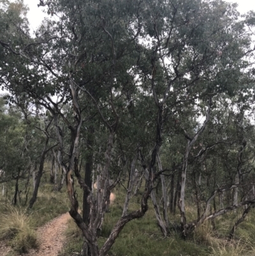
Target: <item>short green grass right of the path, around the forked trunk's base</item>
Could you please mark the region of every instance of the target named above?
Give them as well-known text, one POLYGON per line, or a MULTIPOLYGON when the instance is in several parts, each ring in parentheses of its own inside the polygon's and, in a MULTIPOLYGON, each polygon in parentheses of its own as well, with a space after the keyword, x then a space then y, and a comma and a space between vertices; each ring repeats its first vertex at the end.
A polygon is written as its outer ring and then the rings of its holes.
MULTIPOLYGON (((113 226, 122 215, 124 203, 124 190, 121 187, 115 188, 116 198, 110 206, 110 212, 106 213, 101 236, 98 239, 99 248, 103 246, 113 226)), ((140 208, 140 196, 133 197, 129 204, 129 211, 140 208)), ((68 243, 60 256, 69 256, 72 252, 80 252, 82 248, 82 237, 77 225, 70 220, 66 230, 68 243)), ((178 235, 164 238, 157 227, 156 218, 152 204, 143 218, 133 220, 125 225, 116 239, 108 255, 115 256, 199 256, 208 255, 212 250, 205 245, 196 245, 193 240, 183 241, 178 235)))

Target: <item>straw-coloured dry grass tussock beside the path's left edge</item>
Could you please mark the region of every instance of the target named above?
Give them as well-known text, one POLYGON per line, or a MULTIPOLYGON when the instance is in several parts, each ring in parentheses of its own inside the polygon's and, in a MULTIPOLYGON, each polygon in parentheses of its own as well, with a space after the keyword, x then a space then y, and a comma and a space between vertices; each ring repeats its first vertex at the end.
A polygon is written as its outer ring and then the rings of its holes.
POLYGON ((8 239, 13 250, 25 253, 38 246, 34 223, 25 210, 4 206, 0 213, 0 239, 8 239))

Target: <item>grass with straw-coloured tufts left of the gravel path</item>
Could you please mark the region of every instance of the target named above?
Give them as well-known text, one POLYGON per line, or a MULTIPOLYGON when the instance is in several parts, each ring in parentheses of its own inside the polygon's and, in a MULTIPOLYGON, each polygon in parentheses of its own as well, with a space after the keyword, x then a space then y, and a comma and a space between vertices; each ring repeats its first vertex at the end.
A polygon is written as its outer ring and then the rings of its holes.
MULTIPOLYGON (((0 195, 0 239, 11 246, 11 252, 8 255, 20 255, 31 248, 37 248, 37 227, 69 210, 66 189, 55 192, 52 188, 52 184, 41 183, 38 199, 31 210, 27 209, 27 205, 24 206, 25 195, 22 193, 18 205, 11 204, 14 193, 13 184, 8 184, 7 197, 0 195)), ((22 190, 22 184, 20 189, 22 190)), ((28 194, 28 199, 30 198, 31 192, 28 194)))

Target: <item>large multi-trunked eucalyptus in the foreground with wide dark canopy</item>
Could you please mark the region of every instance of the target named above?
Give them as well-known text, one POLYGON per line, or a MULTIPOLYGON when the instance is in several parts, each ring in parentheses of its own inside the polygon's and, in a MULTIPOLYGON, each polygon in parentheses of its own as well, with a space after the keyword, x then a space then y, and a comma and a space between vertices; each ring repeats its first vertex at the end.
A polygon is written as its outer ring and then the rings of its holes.
MULTIPOLYGON (((165 171, 159 153, 166 141, 164 136, 172 129, 168 121, 175 117, 188 120, 195 114, 207 118, 202 125, 188 126, 189 134, 185 132, 187 123, 179 123, 182 135, 187 138, 187 147, 182 152, 179 201, 186 237, 187 158, 208 124, 215 96, 244 93, 242 87, 247 89, 253 82, 251 63, 247 61, 253 56, 252 39, 245 30, 254 26, 253 14, 240 17, 235 4, 224 1, 40 0, 39 5, 47 6, 49 15, 57 19, 45 20, 36 31, 36 38, 25 33, 25 19, 21 20, 24 29, 11 28, 14 43, 5 32, 0 36, 4 56, 1 77, 15 97, 25 94, 24 103, 41 105, 54 118, 58 160, 66 174, 71 202, 69 213, 82 230, 84 251, 88 245, 91 255, 106 255, 124 225, 145 215, 150 196, 161 230, 167 235, 168 219, 165 216, 162 221, 153 192, 154 183, 165 171), (14 65, 17 60, 20 62, 14 65), (53 95, 59 97, 57 101, 53 95), (197 102, 204 105, 196 105, 197 102), (62 109, 67 103, 73 107, 72 115, 62 109), (60 119, 69 129, 67 154, 60 119), (96 119, 97 126, 89 128, 91 119, 96 119), (100 141, 105 159, 98 175, 96 197, 78 168, 82 127, 91 130, 90 133, 99 127, 104 135, 100 141), (110 190, 118 182, 117 175, 110 184, 114 150, 118 140, 124 140, 125 132, 133 137, 133 152, 138 151, 146 179, 145 191, 141 208, 124 213, 99 250, 97 233, 103 224, 110 190), (89 223, 78 213, 73 173, 90 206, 89 223)), ((3 17, 1 24, 6 20, 6 15, 3 17)))

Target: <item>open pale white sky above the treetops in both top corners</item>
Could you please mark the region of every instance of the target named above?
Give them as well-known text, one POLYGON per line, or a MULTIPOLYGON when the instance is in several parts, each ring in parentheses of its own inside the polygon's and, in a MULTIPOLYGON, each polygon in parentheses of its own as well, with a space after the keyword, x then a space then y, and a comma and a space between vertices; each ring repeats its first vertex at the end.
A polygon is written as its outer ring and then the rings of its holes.
MULTIPOLYGON (((70 0, 71 1, 71 0, 70 0)), ((240 13, 245 13, 247 11, 253 10, 255 11, 255 0, 225 0, 226 2, 238 3, 238 11, 240 13)), ((39 0, 24 0, 24 3, 29 6, 29 12, 27 13, 27 18, 29 19, 29 23, 31 24, 31 30, 33 31, 38 27, 41 23, 41 20, 47 14, 43 13, 41 6, 38 8, 37 4, 39 0)))

